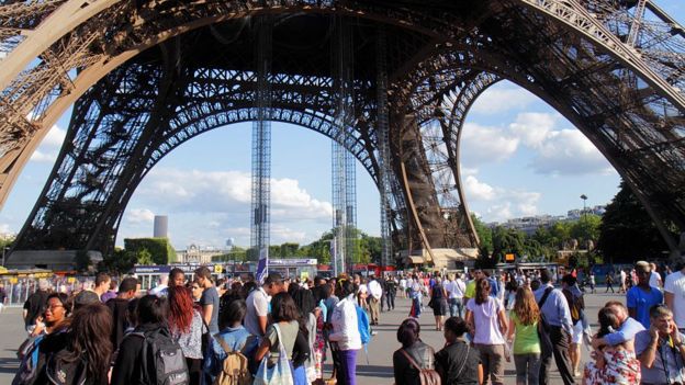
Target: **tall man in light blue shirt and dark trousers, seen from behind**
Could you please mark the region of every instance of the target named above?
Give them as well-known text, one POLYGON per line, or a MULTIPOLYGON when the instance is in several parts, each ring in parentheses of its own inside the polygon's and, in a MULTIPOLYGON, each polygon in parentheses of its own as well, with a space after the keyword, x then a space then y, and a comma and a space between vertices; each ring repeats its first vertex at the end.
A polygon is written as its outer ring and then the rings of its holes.
POLYGON ((549 384, 549 372, 552 355, 557 362, 557 367, 561 380, 565 385, 575 384, 569 358, 569 344, 573 336, 573 321, 571 310, 563 293, 552 285, 552 275, 549 270, 540 272, 541 286, 536 290, 535 296, 540 307, 540 313, 544 316, 550 327, 550 339, 552 342, 551 352, 542 352, 540 363, 540 384, 549 384))

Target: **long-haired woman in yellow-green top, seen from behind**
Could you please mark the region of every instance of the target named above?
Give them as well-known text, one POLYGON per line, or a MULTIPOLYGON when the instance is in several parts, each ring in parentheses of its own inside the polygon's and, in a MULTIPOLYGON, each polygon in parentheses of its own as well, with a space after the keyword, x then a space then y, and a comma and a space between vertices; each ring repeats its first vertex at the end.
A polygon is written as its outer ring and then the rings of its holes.
POLYGON ((516 366, 516 385, 537 385, 540 373, 540 337, 538 322, 540 308, 535 295, 528 287, 518 287, 514 308, 509 313, 509 335, 507 342, 512 343, 514 336, 514 365, 516 366))

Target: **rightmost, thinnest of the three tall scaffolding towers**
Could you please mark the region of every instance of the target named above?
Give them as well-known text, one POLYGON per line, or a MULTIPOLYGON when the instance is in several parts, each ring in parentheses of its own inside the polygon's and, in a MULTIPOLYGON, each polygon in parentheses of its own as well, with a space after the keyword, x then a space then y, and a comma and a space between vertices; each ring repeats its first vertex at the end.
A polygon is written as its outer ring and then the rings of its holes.
POLYGON ((388 122, 388 58, 385 45, 385 30, 379 29, 375 41, 375 93, 377 93, 377 135, 379 161, 379 194, 381 214, 381 265, 392 263, 392 236, 390 230, 391 208, 390 196, 392 185, 390 178, 393 174, 390 155, 390 127, 388 122))

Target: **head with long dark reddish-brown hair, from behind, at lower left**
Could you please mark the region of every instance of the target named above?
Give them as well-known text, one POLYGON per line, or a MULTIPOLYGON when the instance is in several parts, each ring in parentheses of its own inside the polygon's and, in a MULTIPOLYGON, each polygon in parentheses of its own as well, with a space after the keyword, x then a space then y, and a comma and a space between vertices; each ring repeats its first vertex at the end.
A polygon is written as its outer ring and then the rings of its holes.
POLYGON ((89 378, 102 378, 110 369, 114 349, 110 341, 112 335, 112 312, 102 303, 85 305, 74 313, 67 351, 72 359, 86 360, 89 378))

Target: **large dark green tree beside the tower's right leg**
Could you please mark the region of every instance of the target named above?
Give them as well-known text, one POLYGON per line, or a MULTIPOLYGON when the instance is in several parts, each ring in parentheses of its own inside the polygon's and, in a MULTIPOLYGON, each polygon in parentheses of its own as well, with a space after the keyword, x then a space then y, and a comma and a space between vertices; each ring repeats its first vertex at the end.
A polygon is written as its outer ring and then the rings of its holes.
POLYGON ((611 263, 662 257, 669 246, 652 218, 626 182, 619 188, 604 213, 597 250, 611 263))

